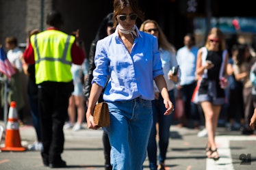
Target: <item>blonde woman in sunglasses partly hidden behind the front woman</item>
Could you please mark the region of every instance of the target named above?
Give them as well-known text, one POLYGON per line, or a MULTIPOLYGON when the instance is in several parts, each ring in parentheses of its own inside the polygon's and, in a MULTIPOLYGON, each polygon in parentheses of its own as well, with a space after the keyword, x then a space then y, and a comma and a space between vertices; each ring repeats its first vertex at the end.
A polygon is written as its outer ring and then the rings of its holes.
MULTIPOLYGON (((164 79, 169 93, 170 100, 175 104, 175 83, 179 82, 178 71, 172 72, 172 67, 178 68, 176 60, 175 46, 168 42, 164 32, 155 20, 145 20, 140 26, 140 31, 150 33, 157 37, 159 53, 162 61, 162 68, 164 71, 164 79)), ((149 157, 149 169, 156 170, 165 169, 164 162, 166 160, 166 153, 169 144, 170 137, 170 125, 172 123, 172 115, 164 115, 166 107, 164 106, 163 98, 159 94, 157 87, 155 86, 155 100, 152 101, 153 107, 153 126, 151 128, 151 134, 148 144, 148 157, 149 157), (158 131, 156 124, 158 123, 158 131), (156 136, 158 133, 158 141, 156 136), (159 165, 157 168, 157 145, 159 146, 159 165)))

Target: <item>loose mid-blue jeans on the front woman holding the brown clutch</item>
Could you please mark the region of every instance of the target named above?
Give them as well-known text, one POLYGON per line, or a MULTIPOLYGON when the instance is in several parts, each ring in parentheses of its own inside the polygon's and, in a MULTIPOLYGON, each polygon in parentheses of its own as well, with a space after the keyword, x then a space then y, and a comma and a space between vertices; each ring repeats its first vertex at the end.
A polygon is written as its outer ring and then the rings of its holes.
POLYGON ((152 126, 151 100, 135 98, 108 102, 110 126, 103 128, 110 139, 110 161, 115 170, 143 169, 152 126))

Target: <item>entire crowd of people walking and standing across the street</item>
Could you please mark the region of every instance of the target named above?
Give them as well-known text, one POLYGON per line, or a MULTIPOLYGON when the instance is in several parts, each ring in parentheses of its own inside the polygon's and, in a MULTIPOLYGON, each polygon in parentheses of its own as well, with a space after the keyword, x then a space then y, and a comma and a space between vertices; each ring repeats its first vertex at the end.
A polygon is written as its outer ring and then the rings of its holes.
POLYGON ((213 27, 204 46, 196 46, 193 33, 186 33, 184 46, 177 49, 156 20, 144 20, 138 1, 114 0, 113 7, 88 55, 79 30, 61 31, 64 19, 56 11, 47 15, 47 30, 29 31, 24 52, 15 37, 6 38, 7 57, 16 72, 8 103, 16 101, 22 125, 25 73, 36 130, 29 150, 40 151, 44 166, 66 167, 61 156, 64 129, 97 130, 92 113, 102 101, 110 111, 110 126, 103 127, 106 170, 143 169, 146 156, 151 170, 166 169, 175 123, 198 130, 205 126, 205 156, 218 160, 215 137, 225 105, 228 130, 254 133, 256 57, 248 44, 228 49, 225 35, 213 27), (137 20, 142 21, 140 27, 137 20), (178 98, 182 104, 175 104, 178 98), (175 109, 183 112, 178 118, 175 109))

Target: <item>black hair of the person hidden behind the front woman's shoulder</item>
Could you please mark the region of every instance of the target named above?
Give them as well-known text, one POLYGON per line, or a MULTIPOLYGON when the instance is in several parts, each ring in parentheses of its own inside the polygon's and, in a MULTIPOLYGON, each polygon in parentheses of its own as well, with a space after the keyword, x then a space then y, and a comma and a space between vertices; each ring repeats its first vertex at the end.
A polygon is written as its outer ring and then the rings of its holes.
POLYGON ((101 25, 99 25, 99 29, 96 33, 94 41, 97 42, 98 40, 101 40, 107 36, 107 27, 113 27, 114 20, 113 20, 113 12, 107 14, 105 18, 101 21, 101 25))

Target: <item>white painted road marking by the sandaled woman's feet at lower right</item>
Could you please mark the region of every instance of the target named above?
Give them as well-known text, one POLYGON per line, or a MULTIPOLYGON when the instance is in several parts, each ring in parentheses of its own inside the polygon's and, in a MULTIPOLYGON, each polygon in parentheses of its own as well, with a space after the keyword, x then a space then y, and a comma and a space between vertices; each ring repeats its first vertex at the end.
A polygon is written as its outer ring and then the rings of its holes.
POLYGON ((216 144, 218 145, 218 154, 220 159, 214 161, 211 158, 206 159, 206 170, 234 170, 232 164, 230 141, 256 141, 255 136, 217 136, 216 144))

